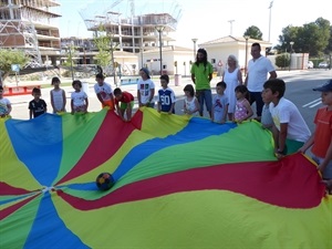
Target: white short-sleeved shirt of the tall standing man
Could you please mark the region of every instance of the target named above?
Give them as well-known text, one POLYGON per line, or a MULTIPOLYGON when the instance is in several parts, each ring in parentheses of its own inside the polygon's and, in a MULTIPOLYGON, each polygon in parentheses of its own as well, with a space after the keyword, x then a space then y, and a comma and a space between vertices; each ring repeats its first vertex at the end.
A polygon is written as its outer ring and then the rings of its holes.
POLYGON ((274 66, 266 56, 261 55, 256 61, 251 59, 248 63, 248 90, 250 92, 261 92, 268 80, 268 73, 272 71, 274 71, 274 66))

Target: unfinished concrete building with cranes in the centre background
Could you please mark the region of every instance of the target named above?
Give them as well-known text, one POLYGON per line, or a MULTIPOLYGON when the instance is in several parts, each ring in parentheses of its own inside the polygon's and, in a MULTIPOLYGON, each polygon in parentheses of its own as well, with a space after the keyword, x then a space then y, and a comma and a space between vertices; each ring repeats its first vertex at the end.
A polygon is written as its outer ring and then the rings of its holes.
MULTIPOLYGON (((178 20, 181 15, 181 8, 178 3, 173 2, 169 11, 156 13, 148 12, 147 6, 153 1, 146 2, 142 9, 141 14, 135 15, 136 8, 134 0, 128 1, 113 1, 108 8, 101 8, 103 12, 93 11, 91 6, 81 10, 80 14, 84 20, 87 30, 93 31, 95 35, 101 27, 107 33, 112 33, 113 42, 117 44, 121 51, 138 53, 146 50, 156 49, 156 46, 169 45, 174 41, 169 33, 176 31, 178 20), (128 3, 129 8, 125 8, 124 3, 128 3), (129 9, 129 13, 125 13, 125 9, 129 9), (146 12, 147 11, 147 12, 146 12), (163 43, 159 44, 158 31, 156 27, 163 25, 163 43)), ((155 3, 155 2, 154 2, 155 3)), ((93 6, 97 6, 96 2, 93 6)))

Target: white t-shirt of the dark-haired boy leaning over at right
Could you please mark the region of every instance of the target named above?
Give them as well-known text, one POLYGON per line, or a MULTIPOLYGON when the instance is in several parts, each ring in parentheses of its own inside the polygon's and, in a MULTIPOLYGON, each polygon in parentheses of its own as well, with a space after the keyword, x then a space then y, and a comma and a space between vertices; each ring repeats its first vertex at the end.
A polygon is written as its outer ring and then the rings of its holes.
POLYGON ((277 106, 270 103, 269 107, 278 131, 280 131, 280 124, 288 123, 287 138, 299 142, 307 142, 309 139, 311 135, 310 129, 298 107, 292 102, 281 97, 277 106))

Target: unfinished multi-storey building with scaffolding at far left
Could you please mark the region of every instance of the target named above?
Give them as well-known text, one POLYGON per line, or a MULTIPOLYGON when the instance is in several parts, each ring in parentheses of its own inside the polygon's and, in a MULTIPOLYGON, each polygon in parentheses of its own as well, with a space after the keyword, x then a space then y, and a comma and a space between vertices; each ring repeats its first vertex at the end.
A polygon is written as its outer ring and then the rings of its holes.
POLYGON ((60 51, 55 0, 0 0, 0 46, 24 50, 27 66, 55 64, 60 51))

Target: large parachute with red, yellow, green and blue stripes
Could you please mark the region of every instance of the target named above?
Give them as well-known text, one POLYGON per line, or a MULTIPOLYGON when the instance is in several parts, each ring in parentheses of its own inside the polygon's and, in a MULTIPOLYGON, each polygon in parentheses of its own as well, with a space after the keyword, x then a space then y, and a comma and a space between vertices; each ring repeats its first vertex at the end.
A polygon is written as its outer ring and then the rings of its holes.
POLYGON ((0 248, 332 248, 317 167, 257 122, 103 110, 0 121, 0 248), (95 178, 108 172, 113 188, 95 178))

